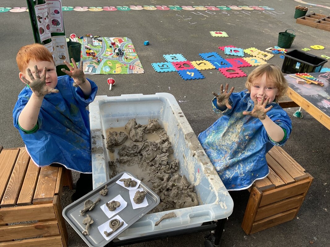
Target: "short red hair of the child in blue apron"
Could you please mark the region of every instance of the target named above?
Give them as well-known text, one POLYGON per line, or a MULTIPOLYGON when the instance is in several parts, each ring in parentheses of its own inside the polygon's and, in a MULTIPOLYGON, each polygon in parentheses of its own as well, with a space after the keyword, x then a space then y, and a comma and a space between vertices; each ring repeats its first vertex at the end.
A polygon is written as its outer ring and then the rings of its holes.
POLYGON ((50 51, 42 44, 34 43, 22 46, 16 55, 20 72, 24 73, 30 61, 48 61, 54 63, 50 51))

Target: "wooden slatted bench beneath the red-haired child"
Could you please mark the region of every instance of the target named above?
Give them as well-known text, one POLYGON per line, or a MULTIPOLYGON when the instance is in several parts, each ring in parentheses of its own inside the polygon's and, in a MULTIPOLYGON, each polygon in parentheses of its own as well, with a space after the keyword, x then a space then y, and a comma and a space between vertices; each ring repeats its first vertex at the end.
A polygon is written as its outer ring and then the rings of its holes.
POLYGON ((37 167, 24 147, 0 147, 0 171, 0 246, 66 247, 60 199, 71 171, 37 167))

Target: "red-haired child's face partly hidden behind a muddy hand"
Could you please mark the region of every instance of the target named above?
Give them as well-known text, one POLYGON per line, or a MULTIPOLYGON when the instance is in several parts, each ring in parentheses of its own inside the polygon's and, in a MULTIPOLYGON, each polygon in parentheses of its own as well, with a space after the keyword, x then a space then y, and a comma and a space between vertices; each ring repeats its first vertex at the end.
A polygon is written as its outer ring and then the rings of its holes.
MULTIPOLYGON (((37 65, 38 69, 39 69, 39 75, 41 77, 41 74, 44 70, 44 68, 47 68, 47 74, 46 74, 46 85, 49 88, 55 88, 57 85, 57 73, 56 73, 56 67, 54 65, 53 62, 49 62, 49 61, 30 61, 27 65, 26 69, 30 69, 32 75, 35 78, 35 69, 34 66, 37 65)), ((25 72, 23 73, 24 77, 29 80, 30 82, 32 82, 31 78, 29 77, 29 75, 27 74, 27 71, 25 70, 25 72)))

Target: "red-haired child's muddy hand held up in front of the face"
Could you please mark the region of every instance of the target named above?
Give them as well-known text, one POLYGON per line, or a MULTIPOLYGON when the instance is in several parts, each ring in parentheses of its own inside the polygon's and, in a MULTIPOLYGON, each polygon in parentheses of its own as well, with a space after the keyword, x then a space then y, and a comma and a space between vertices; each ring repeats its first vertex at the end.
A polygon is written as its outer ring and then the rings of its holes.
POLYGON ((42 71, 41 77, 39 74, 39 69, 35 65, 35 77, 33 76, 32 72, 30 69, 27 69, 27 74, 29 75, 31 82, 27 80, 24 76, 22 76, 23 81, 29 85, 31 88, 32 92, 37 96, 37 97, 43 97, 49 93, 58 93, 57 89, 54 88, 49 88, 46 86, 46 74, 47 74, 47 68, 45 67, 44 70, 42 71))

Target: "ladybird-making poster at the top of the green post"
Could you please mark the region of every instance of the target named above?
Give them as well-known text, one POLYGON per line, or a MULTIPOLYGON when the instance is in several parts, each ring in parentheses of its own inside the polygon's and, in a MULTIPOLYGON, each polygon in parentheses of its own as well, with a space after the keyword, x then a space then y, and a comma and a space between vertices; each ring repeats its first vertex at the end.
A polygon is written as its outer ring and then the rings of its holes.
POLYGON ((40 40, 44 41, 51 37, 51 33, 63 33, 63 16, 60 0, 46 0, 44 4, 34 7, 40 40))

